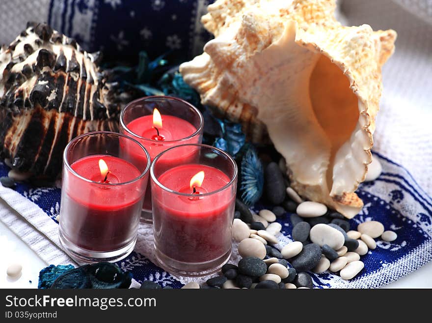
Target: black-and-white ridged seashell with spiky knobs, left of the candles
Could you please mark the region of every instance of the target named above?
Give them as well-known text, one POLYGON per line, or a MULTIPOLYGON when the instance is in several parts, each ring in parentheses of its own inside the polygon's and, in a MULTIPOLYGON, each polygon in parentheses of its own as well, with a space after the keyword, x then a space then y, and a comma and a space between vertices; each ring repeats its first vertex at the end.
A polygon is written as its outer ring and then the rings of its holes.
POLYGON ((15 169, 54 176, 66 144, 118 130, 118 104, 97 66, 72 38, 28 24, 0 50, 0 144, 15 169))

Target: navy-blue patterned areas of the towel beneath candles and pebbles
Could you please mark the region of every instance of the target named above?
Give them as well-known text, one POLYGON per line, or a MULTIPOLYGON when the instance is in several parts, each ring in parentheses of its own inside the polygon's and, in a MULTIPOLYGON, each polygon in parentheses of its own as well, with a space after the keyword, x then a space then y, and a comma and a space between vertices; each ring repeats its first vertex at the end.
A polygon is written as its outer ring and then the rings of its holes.
MULTIPOLYGON (((432 260, 432 199, 418 186, 412 176, 400 165, 375 153, 383 172, 377 180, 360 185, 359 197, 364 201, 362 211, 351 219, 351 228, 367 220, 377 220, 386 230, 393 230, 398 238, 392 242, 377 240, 377 249, 370 250, 361 260, 365 268, 355 279, 344 281, 333 273, 312 274, 319 288, 375 288, 388 284, 432 260)), ((9 168, 0 163, 0 176, 9 168)), ((59 214, 60 189, 56 187, 34 187, 18 183, 16 191, 35 207, 47 214, 46 221, 56 221, 59 214)), ((263 205, 256 205, 258 211, 263 205)), ((266 206, 271 207, 271 206, 266 206)), ((291 241, 290 214, 277 221, 282 225, 278 236, 280 249, 291 241)), ((233 248, 236 258, 236 247, 233 248)), ((238 256, 237 256, 238 257, 238 256)), ((153 264, 142 252, 135 251, 118 265, 131 271, 135 280, 151 280, 163 287, 180 288, 183 284, 162 268, 153 264)))

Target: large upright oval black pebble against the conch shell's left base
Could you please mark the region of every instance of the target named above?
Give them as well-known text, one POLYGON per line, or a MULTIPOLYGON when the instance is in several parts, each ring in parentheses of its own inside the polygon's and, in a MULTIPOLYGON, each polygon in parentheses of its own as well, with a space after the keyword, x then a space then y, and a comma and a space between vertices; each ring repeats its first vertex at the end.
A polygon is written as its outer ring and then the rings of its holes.
POLYGON ((285 200, 285 180, 279 166, 275 162, 267 165, 264 173, 264 192, 267 200, 273 205, 279 205, 285 200))

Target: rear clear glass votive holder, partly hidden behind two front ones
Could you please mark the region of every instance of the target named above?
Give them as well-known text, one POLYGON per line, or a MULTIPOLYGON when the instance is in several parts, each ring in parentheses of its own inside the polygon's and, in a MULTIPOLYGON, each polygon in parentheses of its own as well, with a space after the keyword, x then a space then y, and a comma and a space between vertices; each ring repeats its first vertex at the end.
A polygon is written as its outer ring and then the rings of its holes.
MULTIPOLYGON (((169 96, 137 99, 128 103, 120 115, 121 132, 139 141, 149 152, 152 161, 168 148, 183 144, 201 144, 203 127, 204 119, 197 108, 182 99, 169 96), (155 108, 162 116, 162 127, 159 127, 158 131, 153 127, 155 108)), ((185 160, 192 157, 189 151, 182 151, 182 154, 174 156, 174 161, 166 159, 165 162, 170 165, 179 157, 185 160)), ((139 151, 135 157, 142 158, 139 151)), ((153 222, 150 182, 144 197, 141 221, 153 222)))

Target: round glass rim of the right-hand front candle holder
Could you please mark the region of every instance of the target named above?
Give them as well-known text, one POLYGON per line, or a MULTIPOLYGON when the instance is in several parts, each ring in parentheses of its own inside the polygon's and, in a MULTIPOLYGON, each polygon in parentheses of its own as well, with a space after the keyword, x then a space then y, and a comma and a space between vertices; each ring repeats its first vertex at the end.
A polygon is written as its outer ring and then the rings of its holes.
POLYGON ((200 148, 210 148, 212 150, 216 150, 217 152, 221 153, 222 155, 228 157, 227 159, 234 165, 234 174, 232 176, 230 176, 230 181, 228 183, 226 183, 224 186, 222 186, 221 188, 215 190, 215 191, 211 191, 211 192, 207 192, 207 193, 202 193, 199 194, 200 197, 205 197, 205 196, 209 196, 209 195, 213 195, 216 194, 218 192, 222 192, 223 190, 229 188, 234 181, 236 180, 237 176, 238 176, 238 167, 237 167, 237 163, 236 161, 233 159, 233 157, 230 156, 230 154, 228 154, 226 151, 223 151, 219 148, 210 146, 210 145, 204 145, 204 144, 185 144, 185 145, 179 145, 179 146, 174 146, 171 147, 169 149, 166 149, 164 151, 162 151, 159 155, 156 156, 156 158, 153 160, 152 165, 150 167, 150 178, 151 180, 154 180, 156 185, 158 185, 159 187, 161 187, 164 191, 168 192, 168 193, 172 193, 172 194, 176 194, 176 195, 180 195, 180 196, 185 196, 185 197, 190 197, 189 193, 182 193, 182 192, 178 192, 175 190, 172 190, 164 185, 162 185, 162 183, 156 178, 155 173, 154 173, 154 167, 157 163, 157 161, 159 160, 159 158, 164 154, 167 153, 173 149, 179 148, 179 147, 187 147, 187 146, 197 146, 200 148))

